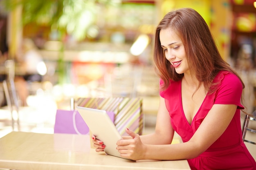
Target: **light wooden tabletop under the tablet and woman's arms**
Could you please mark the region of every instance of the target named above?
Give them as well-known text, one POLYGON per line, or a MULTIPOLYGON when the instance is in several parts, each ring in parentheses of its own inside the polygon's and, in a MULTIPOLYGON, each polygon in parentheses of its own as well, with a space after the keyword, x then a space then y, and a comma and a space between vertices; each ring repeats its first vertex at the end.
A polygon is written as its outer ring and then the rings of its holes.
POLYGON ((14 170, 189 170, 186 160, 129 161, 96 152, 89 135, 11 132, 0 138, 0 168, 14 170))

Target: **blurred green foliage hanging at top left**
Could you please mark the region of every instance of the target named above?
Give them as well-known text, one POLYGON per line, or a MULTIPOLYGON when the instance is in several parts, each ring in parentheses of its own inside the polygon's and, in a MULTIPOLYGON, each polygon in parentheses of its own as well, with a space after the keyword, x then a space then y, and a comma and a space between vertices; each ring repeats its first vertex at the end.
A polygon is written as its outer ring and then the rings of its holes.
POLYGON ((119 0, 2 0, 7 11, 22 7, 22 24, 49 25, 82 40, 95 24, 99 7, 119 4, 119 0))

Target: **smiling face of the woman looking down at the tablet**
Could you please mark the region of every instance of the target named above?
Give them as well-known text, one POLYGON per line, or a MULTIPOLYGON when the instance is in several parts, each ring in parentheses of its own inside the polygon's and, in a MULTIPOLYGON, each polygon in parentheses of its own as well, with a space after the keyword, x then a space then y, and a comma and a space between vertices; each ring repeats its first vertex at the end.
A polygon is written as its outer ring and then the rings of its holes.
POLYGON ((184 45, 180 37, 171 29, 161 29, 159 39, 166 59, 171 62, 176 73, 182 74, 189 71, 184 45))

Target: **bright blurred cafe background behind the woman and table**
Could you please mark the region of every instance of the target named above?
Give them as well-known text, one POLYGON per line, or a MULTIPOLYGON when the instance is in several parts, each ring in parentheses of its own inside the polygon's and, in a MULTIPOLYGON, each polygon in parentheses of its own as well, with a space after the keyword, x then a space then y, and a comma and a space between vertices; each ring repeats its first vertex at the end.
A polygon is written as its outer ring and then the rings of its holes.
MULTIPOLYGON (((58 110, 76 110, 79 101, 99 98, 141 99, 141 133, 153 131, 159 104, 154 31, 164 14, 182 7, 206 20, 220 54, 245 82, 245 111, 256 117, 254 0, 8 4, 15 1, 0 1, 0 137, 12 131, 53 134, 58 110)), ((241 127, 244 122, 241 113, 241 127)), ((256 129, 255 118, 248 127, 256 129)), ((181 142, 175 135, 174 142, 181 142)), ((256 142, 255 130, 245 138, 256 142)), ((256 159, 256 146, 246 146, 256 159)))

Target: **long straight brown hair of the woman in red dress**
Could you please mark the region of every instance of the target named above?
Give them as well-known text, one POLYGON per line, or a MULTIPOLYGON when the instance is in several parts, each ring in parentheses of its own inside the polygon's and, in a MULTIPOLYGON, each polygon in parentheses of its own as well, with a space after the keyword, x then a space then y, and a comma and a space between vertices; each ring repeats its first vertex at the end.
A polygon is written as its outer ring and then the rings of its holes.
POLYGON ((220 56, 216 42, 202 16, 194 9, 182 8, 167 13, 156 28, 154 64, 157 74, 164 81, 163 86, 160 87, 161 90, 170 85, 170 79, 178 81, 184 76, 184 74, 177 74, 175 68, 171 67, 171 63, 165 58, 159 39, 161 29, 171 29, 180 36, 189 69, 200 83, 197 89, 204 85, 208 93, 215 91, 216 86, 209 88, 219 71, 234 73, 242 82, 243 88, 245 87, 236 71, 220 56))

